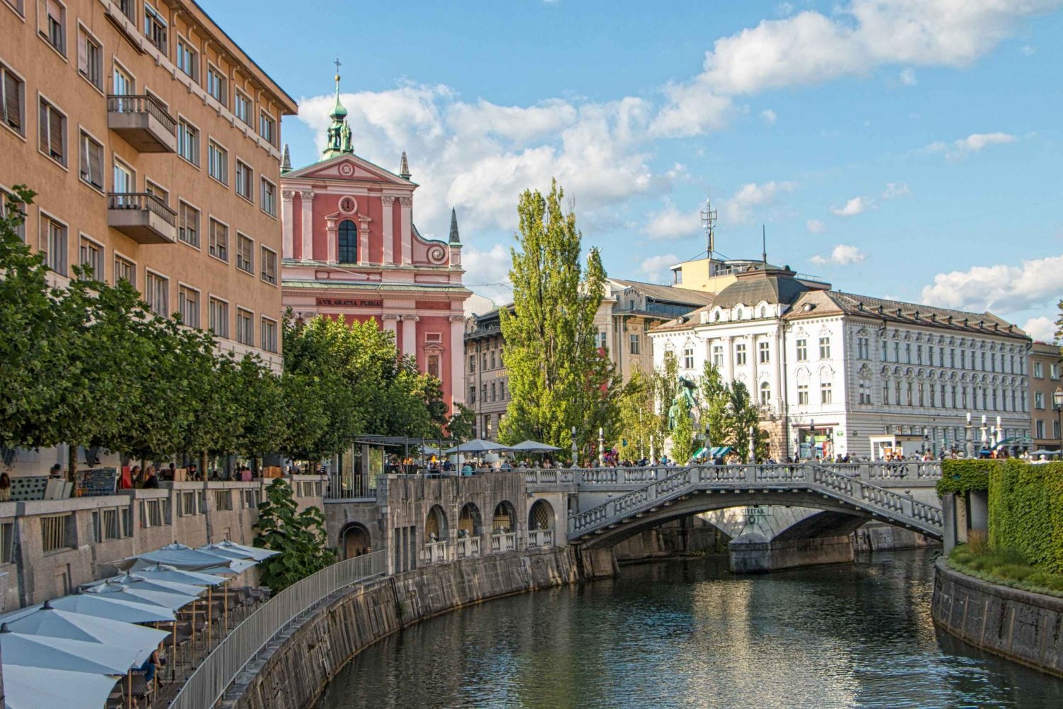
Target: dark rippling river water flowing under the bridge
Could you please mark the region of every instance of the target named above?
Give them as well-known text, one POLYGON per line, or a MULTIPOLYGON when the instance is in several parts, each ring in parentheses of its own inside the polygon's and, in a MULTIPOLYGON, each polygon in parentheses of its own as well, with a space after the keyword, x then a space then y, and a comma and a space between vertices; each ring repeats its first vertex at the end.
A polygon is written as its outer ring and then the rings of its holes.
POLYGON ((625 567, 411 626, 317 709, 1063 708, 1063 680, 935 632, 937 554, 761 576, 711 558, 625 567))

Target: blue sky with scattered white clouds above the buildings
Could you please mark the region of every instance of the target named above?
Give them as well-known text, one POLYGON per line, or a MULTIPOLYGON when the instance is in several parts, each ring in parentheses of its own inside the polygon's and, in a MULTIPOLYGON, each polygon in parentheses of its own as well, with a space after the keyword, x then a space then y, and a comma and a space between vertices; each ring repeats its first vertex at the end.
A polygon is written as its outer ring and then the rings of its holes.
MULTIPOLYGON (((716 250, 1050 340, 1063 298, 1063 0, 199 0, 300 103, 341 62, 355 152, 408 153, 414 220, 503 303, 516 205, 552 178, 609 275, 716 250)), ((487 304, 475 300, 476 306, 487 304)), ((480 310, 482 311, 482 310, 480 310)))

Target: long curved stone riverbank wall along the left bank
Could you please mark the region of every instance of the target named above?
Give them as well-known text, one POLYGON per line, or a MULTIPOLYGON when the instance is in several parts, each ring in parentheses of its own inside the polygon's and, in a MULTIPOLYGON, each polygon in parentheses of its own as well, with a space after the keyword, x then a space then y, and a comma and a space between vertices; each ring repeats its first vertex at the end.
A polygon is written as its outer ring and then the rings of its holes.
POLYGON ((611 550, 513 552, 358 586, 304 613, 237 678, 226 709, 306 709, 357 653, 414 623, 525 591, 613 576, 611 550))

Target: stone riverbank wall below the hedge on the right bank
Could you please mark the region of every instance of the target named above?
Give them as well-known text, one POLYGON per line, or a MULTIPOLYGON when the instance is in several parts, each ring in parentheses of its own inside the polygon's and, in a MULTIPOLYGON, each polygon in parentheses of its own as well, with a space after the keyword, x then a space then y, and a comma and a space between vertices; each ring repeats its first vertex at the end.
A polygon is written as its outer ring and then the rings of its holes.
POLYGON ((990 584, 938 559, 938 627, 994 655, 1063 677, 1063 598, 990 584))

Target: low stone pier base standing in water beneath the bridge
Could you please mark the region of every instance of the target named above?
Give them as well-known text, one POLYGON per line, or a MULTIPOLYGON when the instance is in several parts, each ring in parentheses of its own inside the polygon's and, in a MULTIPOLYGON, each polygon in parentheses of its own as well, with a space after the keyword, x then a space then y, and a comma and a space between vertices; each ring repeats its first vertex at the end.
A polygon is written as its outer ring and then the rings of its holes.
POLYGON ((749 533, 727 545, 731 573, 763 574, 826 563, 851 563, 856 558, 849 535, 811 539, 766 539, 749 533))

